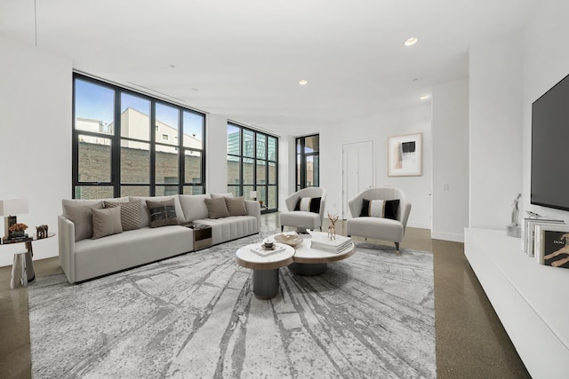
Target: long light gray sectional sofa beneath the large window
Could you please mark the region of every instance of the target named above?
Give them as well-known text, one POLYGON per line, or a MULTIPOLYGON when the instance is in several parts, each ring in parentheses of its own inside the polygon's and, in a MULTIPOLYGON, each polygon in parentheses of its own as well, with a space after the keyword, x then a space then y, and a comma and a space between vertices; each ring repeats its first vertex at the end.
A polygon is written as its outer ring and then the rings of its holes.
MULTIPOLYGON (((257 201, 239 199, 242 203, 244 202, 244 210, 236 212, 234 209, 233 214, 238 216, 212 215, 212 209, 208 208, 210 205, 205 203, 206 199, 208 201, 212 198, 226 199, 225 196, 228 195, 227 193, 219 195, 208 193, 101 200, 63 200, 63 214, 58 217, 60 265, 63 272, 69 283, 76 283, 193 251, 195 250, 194 230, 184 226, 190 222, 210 225, 213 245, 259 233, 260 204, 257 201), (148 209, 147 200, 169 201, 170 203, 173 200, 174 207, 170 208, 172 215, 175 209, 174 224, 180 225, 150 227, 150 210, 152 209, 148 209), (96 219, 95 216, 99 217, 99 215, 113 217, 109 216, 111 212, 117 215, 115 210, 106 209, 105 205, 112 208, 113 204, 110 203, 114 203, 116 209, 123 209, 116 210, 118 212, 124 212, 125 209, 130 208, 135 210, 133 213, 138 213, 136 211, 138 207, 133 205, 138 204, 140 206, 140 227, 125 225, 126 215, 124 213, 118 213, 118 221, 116 218, 96 219), (102 225, 106 232, 103 231, 104 236, 100 236, 99 230, 99 235, 93 236, 93 229, 95 229, 94 233, 97 233, 96 229, 101 225, 93 227, 89 223, 96 223, 101 219, 106 220, 102 225), (118 226, 115 224, 120 223, 121 220, 125 230, 123 232, 114 231, 113 228, 118 226), (105 233, 110 234, 105 235, 105 233)), ((229 202, 228 206, 231 210, 229 202)), ((152 224, 156 226, 154 220, 152 224)))

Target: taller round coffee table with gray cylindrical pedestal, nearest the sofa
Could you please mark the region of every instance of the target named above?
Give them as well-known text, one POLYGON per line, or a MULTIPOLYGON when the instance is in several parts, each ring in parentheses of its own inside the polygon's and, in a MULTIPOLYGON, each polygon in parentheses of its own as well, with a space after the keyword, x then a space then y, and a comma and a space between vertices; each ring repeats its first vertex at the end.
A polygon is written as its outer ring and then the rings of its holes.
POLYGON ((237 265, 252 269, 252 292, 258 299, 271 299, 278 294, 278 269, 293 263, 294 249, 283 243, 276 248, 284 248, 266 257, 251 251, 260 248, 260 243, 252 243, 236 251, 237 265))

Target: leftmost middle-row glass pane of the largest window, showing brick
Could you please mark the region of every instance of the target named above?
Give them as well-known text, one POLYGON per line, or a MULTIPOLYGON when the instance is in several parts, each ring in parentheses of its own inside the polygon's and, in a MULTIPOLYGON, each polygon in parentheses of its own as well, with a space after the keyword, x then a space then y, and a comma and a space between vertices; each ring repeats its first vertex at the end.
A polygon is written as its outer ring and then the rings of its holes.
POLYGON ((79 135, 79 182, 110 182, 111 140, 79 135))

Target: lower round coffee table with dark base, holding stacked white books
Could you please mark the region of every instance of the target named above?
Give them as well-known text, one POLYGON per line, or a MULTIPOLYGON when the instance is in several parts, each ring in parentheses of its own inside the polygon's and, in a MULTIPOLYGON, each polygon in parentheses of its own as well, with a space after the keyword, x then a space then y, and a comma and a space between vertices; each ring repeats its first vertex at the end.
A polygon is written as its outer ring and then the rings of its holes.
MULTIPOLYGON (((269 238, 275 240, 276 235, 278 234, 272 235, 269 238)), ((296 252, 294 253, 293 263, 288 266, 292 272, 306 276, 320 275, 328 268, 328 262, 346 259, 356 252, 356 244, 354 244, 353 241, 351 242, 350 248, 343 250, 339 254, 313 249, 310 247, 311 242, 310 237, 303 237, 302 243, 294 247, 296 252)))

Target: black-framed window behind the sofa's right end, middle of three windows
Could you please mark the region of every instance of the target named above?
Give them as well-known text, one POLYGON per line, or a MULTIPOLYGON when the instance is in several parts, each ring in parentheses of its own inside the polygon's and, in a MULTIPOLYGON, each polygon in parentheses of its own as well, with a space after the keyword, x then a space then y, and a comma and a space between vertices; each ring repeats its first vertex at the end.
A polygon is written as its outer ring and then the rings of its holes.
POLYGON ((228 123, 228 192, 262 201, 262 212, 278 207, 278 138, 228 123))

